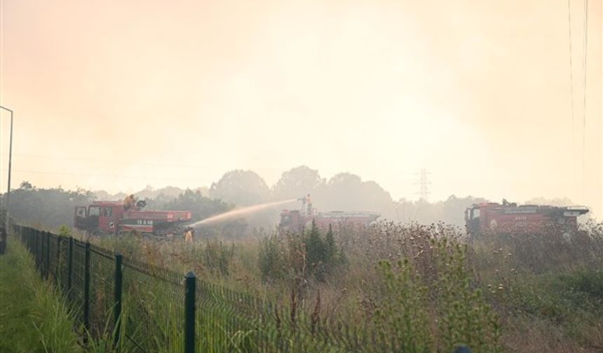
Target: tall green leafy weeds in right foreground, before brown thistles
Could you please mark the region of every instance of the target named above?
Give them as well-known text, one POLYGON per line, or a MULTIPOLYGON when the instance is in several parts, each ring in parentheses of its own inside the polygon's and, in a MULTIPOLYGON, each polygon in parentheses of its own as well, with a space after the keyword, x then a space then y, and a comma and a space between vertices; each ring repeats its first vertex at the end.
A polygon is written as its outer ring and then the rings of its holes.
POLYGON ((435 277, 421 277, 407 258, 397 268, 379 263, 382 288, 374 323, 380 339, 391 342, 392 352, 452 352, 458 345, 500 352, 499 319, 472 284, 466 246, 446 238, 431 244, 435 277))

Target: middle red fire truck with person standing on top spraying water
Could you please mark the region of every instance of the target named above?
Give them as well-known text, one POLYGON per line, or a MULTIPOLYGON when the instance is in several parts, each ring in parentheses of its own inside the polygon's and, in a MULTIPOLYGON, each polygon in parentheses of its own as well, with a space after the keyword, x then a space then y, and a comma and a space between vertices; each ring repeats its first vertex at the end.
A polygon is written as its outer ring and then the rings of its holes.
POLYGON ((341 223, 366 226, 381 216, 375 212, 316 212, 312 207, 310 195, 299 198, 298 201, 302 201, 301 210, 284 209, 280 214, 278 229, 281 232, 302 232, 304 228, 311 226, 312 221, 323 230, 328 229, 329 226, 339 226, 341 223))

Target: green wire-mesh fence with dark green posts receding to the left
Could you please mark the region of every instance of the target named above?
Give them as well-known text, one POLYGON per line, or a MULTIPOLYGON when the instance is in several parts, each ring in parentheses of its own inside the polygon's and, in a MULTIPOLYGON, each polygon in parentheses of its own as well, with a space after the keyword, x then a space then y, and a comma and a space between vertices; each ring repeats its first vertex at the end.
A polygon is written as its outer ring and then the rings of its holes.
MULTIPOLYGON (((233 291, 72 237, 13 225, 41 275, 68 298, 83 343, 118 352, 397 352, 363 323, 343 324, 258 293, 233 291)), ((468 351, 459 351, 468 352, 468 351)))

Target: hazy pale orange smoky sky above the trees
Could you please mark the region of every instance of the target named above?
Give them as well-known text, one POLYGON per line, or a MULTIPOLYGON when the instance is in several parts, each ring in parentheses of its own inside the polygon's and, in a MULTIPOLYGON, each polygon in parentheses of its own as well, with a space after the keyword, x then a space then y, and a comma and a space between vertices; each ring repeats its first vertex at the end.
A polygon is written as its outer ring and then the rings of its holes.
POLYGON ((270 185, 309 165, 414 199, 426 168, 431 200, 601 212, 602 1, 586 114, 583 1, 573 71, 566 0, 0 1, 14 186, 209 186, 229 169, 270 185))

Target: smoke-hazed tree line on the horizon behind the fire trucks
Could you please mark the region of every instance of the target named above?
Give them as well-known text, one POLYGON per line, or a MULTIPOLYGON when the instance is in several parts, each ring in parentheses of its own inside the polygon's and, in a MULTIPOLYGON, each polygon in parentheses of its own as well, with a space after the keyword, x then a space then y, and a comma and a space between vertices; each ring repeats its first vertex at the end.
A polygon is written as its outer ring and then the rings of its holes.
MULTIPOLYGON (((331 179, 320 177, 318 170, 306 166, 294 167, 284 172, 273 186, 251 170, 236 169, 226 172, 209 188, 180 189, 167 187, 154 189, 150 186, 135 193, 138 199, 147 201, 147 209, 190 210, 194 220, 226 212, 235 207, 257 205, 262 202, 301 198, 311 194, 313 206, 320 211, 370 211, 381 214, 381 219, 407 223, 434 223, 444 221, 456 226, 464 224, 464 210, 473 203, 486 202, 485 198, 451 195, 447 200, 426 202, 425 200, 393 200, 391 195, 374 181, 363 181, 358 175, 339 173, 331 179)), ((57 227, 71 225, 74 207, 86 205, 93 200, 123 200, 125 193, 111 195, 105 191, 75 191, 58 188, 36 188, 27 181, 11 193, 11 214, 15 219, 27 223, 57 227)), ((5 205, 1 195, 2 203, 5 205)), ((546 200, 536 198, 528 203, 571 205, 567 199, 546 200)), ((301 204, 285 205, 297 209, 301 204)), ((218 233, 241 232, 249 228, 270 228, 278 223, 280 209, 267 209, 245 221, 229 223, 218 233), (234 224, 234 225, 233 225, 234 224), (224 230, 226 227, 226 230, 224 230)))

